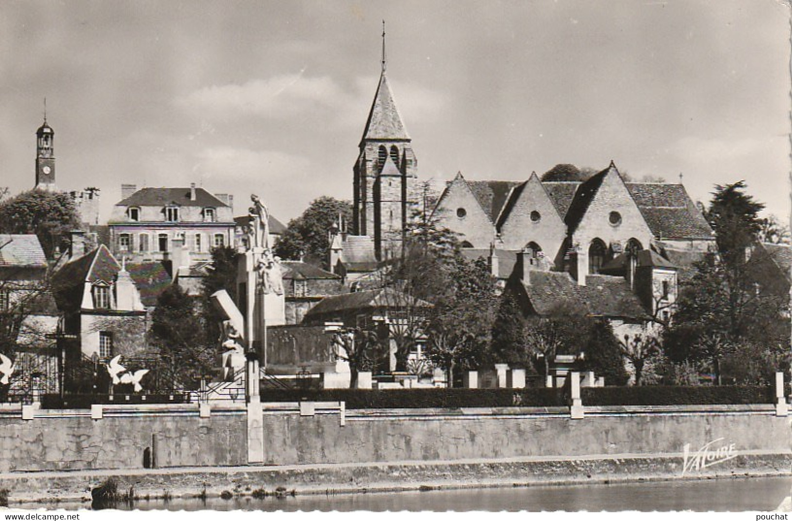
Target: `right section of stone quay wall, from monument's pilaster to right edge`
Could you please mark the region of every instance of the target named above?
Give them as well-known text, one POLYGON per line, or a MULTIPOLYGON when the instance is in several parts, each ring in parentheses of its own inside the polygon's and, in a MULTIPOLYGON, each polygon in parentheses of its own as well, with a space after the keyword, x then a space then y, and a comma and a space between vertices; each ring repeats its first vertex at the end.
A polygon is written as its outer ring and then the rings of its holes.
MULTIPOLYGON (((569 409, 386 409, 265 413, 264 463, 453 461, 681 455, 731 447, 792 454, 788 417, 771 405, 569 409)), ((682 458, 680 458, 680 470, 682 458)))

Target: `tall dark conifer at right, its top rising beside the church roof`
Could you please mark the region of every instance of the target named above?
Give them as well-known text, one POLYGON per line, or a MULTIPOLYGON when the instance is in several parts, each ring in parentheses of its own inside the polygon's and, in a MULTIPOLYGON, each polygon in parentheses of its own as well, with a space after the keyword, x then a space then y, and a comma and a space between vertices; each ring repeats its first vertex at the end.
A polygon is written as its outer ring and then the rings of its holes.
POLYGON ((722 382, 722 362, 739 356, 739 346, 789 343, 781 325, 786 299, 760 291, 746 252, 760 239, 764 205, 745 193, 739 181, 716 186, 706 218, 718 252, 695 264, 695 275, 680 291, 672 326, 664 333, 669 359, 706 361, 714 384, 722 382))

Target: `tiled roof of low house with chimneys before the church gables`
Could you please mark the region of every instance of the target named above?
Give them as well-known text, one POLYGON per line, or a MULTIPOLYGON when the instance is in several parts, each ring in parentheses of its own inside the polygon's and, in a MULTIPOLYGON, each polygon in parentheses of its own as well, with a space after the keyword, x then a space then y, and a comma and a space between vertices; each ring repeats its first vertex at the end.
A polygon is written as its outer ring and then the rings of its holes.
POLYGON ((549 315, 558 306, 579 307, 594 317, 646 318, 638 297, 622 277, 586 276, 578 286, 567 272, 529 272, 531 283, 521 283, 537 314, 549 315))

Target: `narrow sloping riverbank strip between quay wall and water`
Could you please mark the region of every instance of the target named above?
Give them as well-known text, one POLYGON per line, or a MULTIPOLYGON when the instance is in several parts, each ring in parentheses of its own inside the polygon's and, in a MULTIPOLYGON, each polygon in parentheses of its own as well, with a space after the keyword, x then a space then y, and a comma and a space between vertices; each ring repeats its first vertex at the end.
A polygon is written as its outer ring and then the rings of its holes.
POLYGON ((612 454, 575 458, 499 458, 450 462, 326 463, 290 466, 173 467, 0 473, 9 504, 79 508, 112 478, 134 498, 349 494, 435 489, 581 485, 792 475, 792 454, 743 452, 683 473, 683 454, 612 454))

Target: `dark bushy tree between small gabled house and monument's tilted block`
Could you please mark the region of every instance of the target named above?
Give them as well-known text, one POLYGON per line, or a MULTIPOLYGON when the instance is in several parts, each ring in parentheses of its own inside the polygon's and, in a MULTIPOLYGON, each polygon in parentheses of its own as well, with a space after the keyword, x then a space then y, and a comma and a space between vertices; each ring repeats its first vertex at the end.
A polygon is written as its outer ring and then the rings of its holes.
POLYGON ((174 388, 195 386, 215 366, 217 349, 207 343, 204 329, 198 299, 178 284, 162 292, 151 317, 150 338, 174 388))

